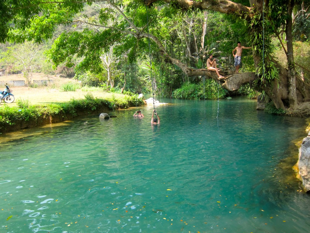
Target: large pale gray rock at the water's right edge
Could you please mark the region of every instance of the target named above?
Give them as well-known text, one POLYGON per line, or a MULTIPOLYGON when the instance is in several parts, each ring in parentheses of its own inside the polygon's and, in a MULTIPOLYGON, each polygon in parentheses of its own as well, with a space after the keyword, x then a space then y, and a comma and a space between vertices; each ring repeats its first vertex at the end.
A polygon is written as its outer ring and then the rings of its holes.
MULTIPOLYGON (((310 133, 309 133, 310 134, 310 133)), ((303 180, 305 191, 310 190, 310 135, 303 139, 299 148, 299 174, 303 180)))

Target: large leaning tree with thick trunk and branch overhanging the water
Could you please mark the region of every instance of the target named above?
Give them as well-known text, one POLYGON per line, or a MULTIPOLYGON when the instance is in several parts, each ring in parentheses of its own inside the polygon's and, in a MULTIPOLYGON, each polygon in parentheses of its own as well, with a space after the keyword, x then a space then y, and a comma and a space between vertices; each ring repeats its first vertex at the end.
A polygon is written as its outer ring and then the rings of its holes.
MULTIPOLYGON (((241 18, 247 25, 252 42, 253 58, 257 71, 230 75, 219 81, 229 89, 236 90, 242 84, 254 82, 256 89, 262 91, 277 108, 297 108, 298 103, 309 100, 309 86, 296 77, 292 45, 292 12, 298 0, 250 0, 248 5, 228 0, 147 0, 141 1, 47 1, 47 0, 4 0, 0 3, 0 42, 14 40, 23 42, 34 39, 41 42, 51 38, 55 25, 84 24, 82 30, 63 33, 55 40, 51 59, 55 64, 71 63, 73 56, 83 57, 79 68, 98 71, 100 55, 109 46, 122 41, 122 49, 134 54, 137 47, 146 47, 147 39, 156 43, 166 62, 179 66, 188 76, 206 75, 217 79, 214 72, 194 69, 188 63, 172 57, 162 43, 158 21, 161 9, 175 8, 182 11, 197 8, 201 11, 213 10, 241 18), (95 4, 99 14, 96 16, 79 15, 85 4, 95 4), (145 5, 148 7, 146 8, 145 5), (124 10, 122 10, 124 7, 124 10), (116 13, 118 15, 116 16, 116 13), (111 24, 111 18, 113 23, 111 24), (277 35, 279 28, 285 27, 286 56, 288 68, 282 67, 271 56, 270 36, 277 35), (149 28, 152 33, 149 33, 149 28), (124 43, 124 41, 126 41, 124 43)), ((173 13, 173 11, 165 11, 173 13)), ((71 63, 72 64, 72 63, 71 63)))

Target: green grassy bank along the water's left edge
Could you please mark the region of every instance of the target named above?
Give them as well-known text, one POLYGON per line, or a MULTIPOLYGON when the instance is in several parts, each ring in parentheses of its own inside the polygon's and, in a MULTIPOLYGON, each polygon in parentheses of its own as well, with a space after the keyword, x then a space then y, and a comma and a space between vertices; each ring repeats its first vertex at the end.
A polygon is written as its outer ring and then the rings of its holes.
POLYGON ((144 105, 137 95, 111 95, 107 98, 94 98, 91 93, 85 99, 72 98, 63 103, 35 104, 29 100, 16 100, 16 106, 4 104, 0 108, 0 133, 42 126, 72 119, 76 116, 97 113, 103 109, 119 109, 144 105))

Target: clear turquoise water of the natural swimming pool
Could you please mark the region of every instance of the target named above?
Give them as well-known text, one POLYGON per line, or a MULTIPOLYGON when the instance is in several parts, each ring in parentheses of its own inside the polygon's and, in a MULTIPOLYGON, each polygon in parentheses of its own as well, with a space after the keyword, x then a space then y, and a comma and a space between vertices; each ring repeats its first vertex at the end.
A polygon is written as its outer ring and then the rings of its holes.
POLYGON ((309 232, 287 164, 304 119, 246 98, 220 100, 218 118, 217 101, 164 102, 160 126, 147 106, 2 142, 0 232, 309 232))

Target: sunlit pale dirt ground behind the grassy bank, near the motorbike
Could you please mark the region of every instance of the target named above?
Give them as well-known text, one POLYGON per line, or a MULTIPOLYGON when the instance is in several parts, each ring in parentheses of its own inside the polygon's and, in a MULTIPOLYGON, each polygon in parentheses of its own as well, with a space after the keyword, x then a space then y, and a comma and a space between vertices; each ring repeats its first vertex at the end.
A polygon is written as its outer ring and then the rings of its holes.
MULTIPOLYGON (((81 91, 81 89, 78 89, 77 91, 69 91, 69 92, 63 92, 60 91, 60 89, 56 89, 55 87, 60 87, 61 84, 73 81, 72 79, 65 79, 65 78, 58 78, 55 76, 50 76, 49 79, 53 80, 53 86, 49 85, 47 87, 38 87, 38 88, 31 88, 31 87, 15 87, 9 85, 10 89, 12 90, 12 94, 15 97, 15 101, 13 103, 6 103, 9 106, 16 106, 16 101, 18 99, 22 100, 29 100, 30 104, 41 104, 41 103, 60 103, 60 102, 67 102, 70 101, 70 99, 84 99, 84 95, 89 93, 87 91, 81 91), (54 88, 53 88, 54 87, 54 88)), ((13 80, 24 80, 24 77, 22 74, 20 75, 7 75, 7 76, 0 76, 0 81, 2 83, 6 83, 8 81, 13 80)), ((46 75, 44 74, 33 74, 33 80, 47 80, 46 75)), ((2 91, 5 89, 5 86, 0 86, 0 90, 2 91)), ((112 94, 112 93, 105 93, 105 92, 99 92, 99 91, 91 91, 90 92, 95 98, 107 98, 109 96, 118 94, 112 94)), ((5 102, 2 101, 0 104, 0 107, 3 106, 5 102)))

